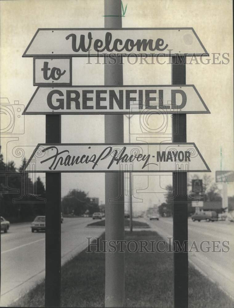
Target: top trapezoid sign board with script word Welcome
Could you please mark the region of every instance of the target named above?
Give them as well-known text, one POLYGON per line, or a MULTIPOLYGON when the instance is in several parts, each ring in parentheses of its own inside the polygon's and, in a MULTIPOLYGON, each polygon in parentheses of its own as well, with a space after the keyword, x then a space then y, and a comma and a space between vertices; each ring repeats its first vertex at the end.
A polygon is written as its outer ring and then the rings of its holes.
POLYGON ((23 57, 208 55, 193 28, 38 29, 23 57))

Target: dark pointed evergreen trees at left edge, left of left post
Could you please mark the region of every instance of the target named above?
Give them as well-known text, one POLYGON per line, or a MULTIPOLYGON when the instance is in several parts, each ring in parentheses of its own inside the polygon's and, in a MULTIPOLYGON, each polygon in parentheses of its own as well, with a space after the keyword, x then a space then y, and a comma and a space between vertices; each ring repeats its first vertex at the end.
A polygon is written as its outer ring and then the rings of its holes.
POLYGON ((38 176, 33 182, 27 172, 22 172, 26 159, 22 166, 15 167, 14 161, 4 162, 0 155, 0 201, 1 216, 10 222, 32 221, 37 215, 45 215, 46 191, 45 186, 38 176), (12 175, 9 175, 9 174, 12 175))

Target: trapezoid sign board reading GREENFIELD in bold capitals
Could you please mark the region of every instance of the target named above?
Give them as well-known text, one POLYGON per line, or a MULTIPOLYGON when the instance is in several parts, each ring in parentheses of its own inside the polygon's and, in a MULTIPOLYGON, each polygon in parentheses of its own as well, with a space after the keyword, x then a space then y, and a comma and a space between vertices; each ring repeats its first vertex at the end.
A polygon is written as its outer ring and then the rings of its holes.
POLYGON ((23 114, 210 113, 194 85, 38 87, 23 114))

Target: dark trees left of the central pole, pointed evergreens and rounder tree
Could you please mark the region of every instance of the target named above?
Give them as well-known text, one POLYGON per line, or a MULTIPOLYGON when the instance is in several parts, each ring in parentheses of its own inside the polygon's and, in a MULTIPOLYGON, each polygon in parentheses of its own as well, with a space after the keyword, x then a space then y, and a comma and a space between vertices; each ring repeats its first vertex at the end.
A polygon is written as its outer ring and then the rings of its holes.
MULTIPOLYGON (((1 216, 10 222, 33 221, 37 215, 45 215, 45 186, 40 176, 33 181, 27 172, 23 172, 25 164, 24 158, 22 166, 16 168, 13 160, 6 163, 0 154, 0 171, 8 173, 0 178, 1 216)), ((64 214, 91 215, 99 212, 99 205, 84 191, 73 189, 62 198, 61 210, 64 214)))

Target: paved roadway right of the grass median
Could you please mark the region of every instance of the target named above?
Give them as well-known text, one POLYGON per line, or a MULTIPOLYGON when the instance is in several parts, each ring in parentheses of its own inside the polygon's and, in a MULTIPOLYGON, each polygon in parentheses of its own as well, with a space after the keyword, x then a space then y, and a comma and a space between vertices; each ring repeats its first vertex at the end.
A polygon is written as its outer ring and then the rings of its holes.
MULTIPOLYGON (((172 219, 160 218, 159 221, 147 221, 151 228, 157 231, 162 237, 172 237, 172 219)), ((217 243, 216 243, 217 244, 217 243)), ((219 245, 220 248, 224 246, 219 245)), ((234 223, 228 221, 196 221, 188 220, 188 253, 189 261, 206 274, 234 299, 234 223), (229 241, 229 252, 195 252, 191 249, 193 241, 196 245, 204 240, 210 241, 210 244, 204 243, 203 247, 213 247, 211 241, 229 241)), ((200 249, 199 249, 200 250, 200 249)), ((211 249, 212 250, 212 249, 211 249)))

